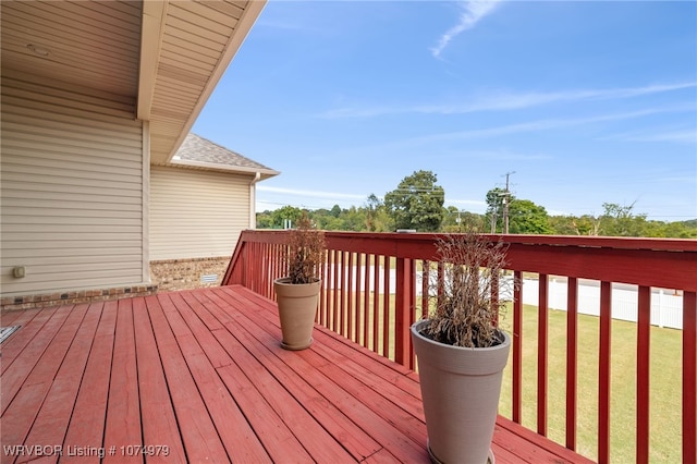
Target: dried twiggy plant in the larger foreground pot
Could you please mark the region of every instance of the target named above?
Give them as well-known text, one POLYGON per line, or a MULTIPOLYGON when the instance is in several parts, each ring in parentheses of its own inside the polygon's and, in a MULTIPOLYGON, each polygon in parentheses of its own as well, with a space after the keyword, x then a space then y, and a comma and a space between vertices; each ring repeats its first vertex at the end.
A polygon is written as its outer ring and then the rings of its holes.
POLYGON ((430 282, 435 309, 423 334, 454 346, 502 343, 498 320, 516 284, 503 279, 508 245, 467 232, 439 239, 437 249, 442 279, 430 282))

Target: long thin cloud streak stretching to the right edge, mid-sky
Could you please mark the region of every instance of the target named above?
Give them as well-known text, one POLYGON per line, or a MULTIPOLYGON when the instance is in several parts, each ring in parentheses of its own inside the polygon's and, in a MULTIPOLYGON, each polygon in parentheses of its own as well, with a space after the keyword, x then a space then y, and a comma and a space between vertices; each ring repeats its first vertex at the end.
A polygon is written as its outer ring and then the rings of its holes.
MULTIPOLYGON (((374 118, 388 114, 464 114, 480 111, 512 111, 574 101, 614 100, 641 97, 667 91, 697 87, 697 82, 675 84, 651 84, 641 87, 578 89, 550 93, 511 93, 493 91, 465 101, 431 105, 378 105, 365 107, 347 107, 327 111, 321 118, 374 118)), ((451 99, 452 100, 452 99, 451 99)))

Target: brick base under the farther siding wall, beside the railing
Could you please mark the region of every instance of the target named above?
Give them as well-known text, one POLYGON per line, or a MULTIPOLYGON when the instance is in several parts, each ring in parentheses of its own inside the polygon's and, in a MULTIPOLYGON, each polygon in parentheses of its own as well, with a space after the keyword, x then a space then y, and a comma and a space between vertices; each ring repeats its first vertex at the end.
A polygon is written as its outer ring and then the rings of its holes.
POLYGON ((150 261, 150 279, 160 291, 219 286, 229 262, 230 256, 150 261), (204 282, 204 276, 216 279, 204 282))

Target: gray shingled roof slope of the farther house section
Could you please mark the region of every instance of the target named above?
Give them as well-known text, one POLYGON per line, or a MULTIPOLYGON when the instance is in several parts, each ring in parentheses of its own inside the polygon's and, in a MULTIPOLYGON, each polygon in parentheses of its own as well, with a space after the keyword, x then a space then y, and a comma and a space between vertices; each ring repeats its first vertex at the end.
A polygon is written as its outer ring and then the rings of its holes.
POLYGON ((201 164, 205 164, 211 169, 219 168, 225 171, 235 171, 235 168, 240 168, 240 171, 259 171, 267 176, 278 174, 277 171, 261 163, 193 133, 189 133, 184 139, 172 158, 172 164, 188 164, 187 161, 192 162, 192 166, 203 167, 201 164))

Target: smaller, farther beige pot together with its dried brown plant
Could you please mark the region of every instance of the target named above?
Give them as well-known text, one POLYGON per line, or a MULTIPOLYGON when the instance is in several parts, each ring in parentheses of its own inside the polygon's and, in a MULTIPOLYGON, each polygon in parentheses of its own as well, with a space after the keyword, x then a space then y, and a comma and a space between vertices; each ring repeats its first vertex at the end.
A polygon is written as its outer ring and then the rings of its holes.
POLYGON ((313 228, 307 212, 290 231, 284 256, 288 276, 273 281, 285 350, 305 350, 313 343, 313 329, 325 262, 325 232, 313 228))

